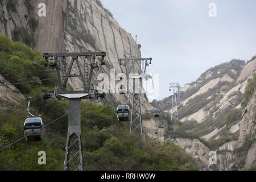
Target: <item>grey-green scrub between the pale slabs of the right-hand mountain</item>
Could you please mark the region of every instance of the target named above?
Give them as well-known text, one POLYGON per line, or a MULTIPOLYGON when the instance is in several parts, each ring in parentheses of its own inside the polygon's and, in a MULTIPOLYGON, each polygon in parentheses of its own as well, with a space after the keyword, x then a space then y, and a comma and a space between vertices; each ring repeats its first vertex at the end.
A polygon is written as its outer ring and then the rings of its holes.
MULTIPOLYGON (((243 107, 241 107, 240 109, 225 109, 225 110, 218 111, 217 113, 215 112, 218 110, 218 107, 214 107, 212 110, 210 110, 209 117, 206 118, 201 123, 196 123, 195 121, 185 121, 183 123, 182 129, 189 130, 189 131, 186 133, 181 132, 181 135, 184 135, 184 137, 188 137, 188 138, 199 138, 205 134, 210 133, 216 128, 220 129, 221 127, 226 125, 226 127, 217 134, 219 136, 218 139, 214 139, 215 137, 217 137, 216 135, 208 141, 203 140, 203 143, 205 143, 210 148, 210 150, 216 150, 218 147, 222 146, 222 144, 224 143, 237 140, 238 132, 230 133, 229 129, 231 126, 235 125, 237 122, 240 121, 241 115, 242 115, 242 109, 250 101, 251 97, 253 97, 255 89, 256 89, 256 75, 254 75, 254 77, 251 78, 246 85, 245 93, 243 94, 244 101, 241 104, 243 107), (213 113, 215 113, 214 117, 213 117, 213 113)), ((238 97, 236 102, 241 102, 242 97, 240 96, 241 95, 240 92, 232 93, 232 96, 229 96, 229 98, 232 98, 233 96, 237 96, 237 95, 238 97)), ((192 100, 185 107, 190 106, 191 108, 193 108, 191 104, 195 106, 196 102, 193 103, 193 100, 192 100)), ((180 110, 182 111, 182 109, 183 107, 181 107, 180 110)), ((192 112, 192 113, 195 113, 195 112, 192 112)), ((189 114, 192 114, 192 113, 189 113, 189 114)))

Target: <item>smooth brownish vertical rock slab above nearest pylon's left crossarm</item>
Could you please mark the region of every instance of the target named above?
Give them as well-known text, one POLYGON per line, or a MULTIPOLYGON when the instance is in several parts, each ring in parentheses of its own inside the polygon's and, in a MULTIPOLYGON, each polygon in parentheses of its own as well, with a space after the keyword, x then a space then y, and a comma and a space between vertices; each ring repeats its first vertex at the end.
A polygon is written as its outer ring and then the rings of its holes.
POLYGON ((38 20, 35 31, 35 48, 40 52, 63 52, 64 33, 68 17, 68 1, 34 0, 31 1, 34 17, 38 20), (46 5, 46 17, 38 16, 39 3, 46 5))

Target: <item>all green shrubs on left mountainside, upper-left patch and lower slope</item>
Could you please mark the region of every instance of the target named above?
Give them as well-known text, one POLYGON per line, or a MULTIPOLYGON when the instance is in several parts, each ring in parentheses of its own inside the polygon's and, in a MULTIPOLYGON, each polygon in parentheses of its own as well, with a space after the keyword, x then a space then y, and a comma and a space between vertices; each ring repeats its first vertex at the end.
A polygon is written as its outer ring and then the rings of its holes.
MULTIPOLYGON (((0 73, 11 82, 30 81, 34 77, 48 78, 54 74, 44 67, 38 51, 21 43, 13 43, 0 36, 0 73), (15 67, 16 70, 10 67, 15 67), (43 72, 40 72, 43 71, 43 72), (48 72, 48 73, 47 73, 48 72)), ((31 101, 31 113, 42 115, 45 124, 68 111, 68 101, 43 100, 42 96, 53 81, 40 84, 22 84, 20 91, 38 98, 31 101)), ((9 102, 0 101, 0 148, 24 136, 23 124, 27 118, 26 105, 4 113, 9 102)), ((13 104, 11 104, 13 105, 13 104)), ((176 144, 159 144, 154 140, 139 140, 130 134, 126 122, 118 122, 114 109, 81 101, 81 132, 85 170, 195 170, 197 164, 176 144), (85 105, 83 105, 85 104, 85 105)), ((0 154, 1 170, 63 170, 68 116, 46 127, 42 142, 21 140, 0 154), (46 152, 46 165, 38 164, 38 152, 46 152)))

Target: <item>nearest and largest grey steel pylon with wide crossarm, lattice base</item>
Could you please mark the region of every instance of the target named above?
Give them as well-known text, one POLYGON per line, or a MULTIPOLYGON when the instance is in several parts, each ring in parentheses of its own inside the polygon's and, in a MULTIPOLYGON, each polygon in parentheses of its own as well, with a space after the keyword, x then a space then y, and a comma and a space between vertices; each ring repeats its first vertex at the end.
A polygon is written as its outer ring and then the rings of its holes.
POLYGON ((77 1, 75 0, 75 26, 74 26, 74 52, 71 53, 43 53, 43 57, 46 59, 46 66, 53 68, 57 72, 58 76, 58 87, 59 90, 48 91, 44 95, 44 100, 48 98, 61 97, 67 98, 69 100, 68 105, 68 134, 67 142, 65 147, 65 162, 64 171, 83 171, 83 156, 82 156, 82 141, 81 141, 81 110, 80 101, 82 98, 104 98, 104 93, 99 93, 98 90, 92 88, 91 80, 93 71, 99 69, 98 63, 96 61, 97 56, 101 56, 101 65, 105 65, 104 57, 106 52, 76 52, 76 10, 77 1), (71 57, 69 63, 68 71, 63 69, 61 73, 61 64, 64 68, 67 67, 67 61, 65 58, 71 57), (82 69, 79 58, 85 58, 86 64, 84 64, 84 69, 82 69), (62 59, 62 61, 60 61, 62 59), (62 63, 61 63, 62 62, 62 63), (76 64, 77 67, 73 67, 76 64), (88 66, 90 65, 90 70, 88 66), (71 71, 75 70, 75 74, 71 74, 71 71), (77 72, 79 72, 77 74, 77 72), (68 90, 67 84, 68 79, 71 77, 80 77, 82 81, 82 90, 68 90))

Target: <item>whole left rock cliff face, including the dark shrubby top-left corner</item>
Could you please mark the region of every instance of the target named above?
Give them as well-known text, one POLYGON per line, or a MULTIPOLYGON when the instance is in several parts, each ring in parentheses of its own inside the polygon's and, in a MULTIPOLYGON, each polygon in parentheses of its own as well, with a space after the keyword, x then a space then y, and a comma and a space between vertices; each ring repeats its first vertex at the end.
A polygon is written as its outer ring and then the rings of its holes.
MULTIPOLYGON (((13 2, 13 1, 11 1, 13 2)), ((40 52, 73 52, 74 1, 26 0, 13 5, 15 9, 8 9, 8 1, 1 1, 0 31, 13 38, 13 30, 24 27, 29 35, 34 35, 34 48, 40 52), (46 17, 39 17, 39 3, 46 4, 46 17), (29 6, 28 6, 29 5, 29 6), (30 11, 33 9, 34 11, 30 11), (32 13, 31 13, 32 12, 32 13), (30 22, 34 18, 38 22, 35 32, 31 31, 30 22)), ((100 71, 93 73, 92 84, 97 86, 99 73, 106 73, 110 78, 110 69, 115 69, 115 75, 125 73, 125 67, 119 65, 118 58, 141 57, 141 52, 134 38, 114 20, 112 14, 106 10, 100 1, 77 1, 76 13, 77 44, 76 52, 105 51, 106 65, 100 66, 100 71)), ((71 61, 71 60, 67 60, 71 61)), ((84 63, 84 60, 79 60, 84 63)), ((134 73, 140 73, 140 63, 135 64, 134 73)), ((78 70, 72 71, 76 73, 78 70)), ((116 81, 117 84, 118 81, 116 81)), ((79 78, 68 81, 70 88, 81 88, 79 78)), ((78 89, 79 90, 79 89, 78 89)), ((116 89, 117 90, 117 89, 116 89)), ((128 100, 126 95, 107 94, 102 103, 109 103, 113 107, 128 100)), ((131 97, 130 97, 131 100, 131 97)), ((142 113, 150 110, 147 98, 141 95, 142 113)))

